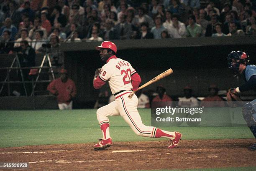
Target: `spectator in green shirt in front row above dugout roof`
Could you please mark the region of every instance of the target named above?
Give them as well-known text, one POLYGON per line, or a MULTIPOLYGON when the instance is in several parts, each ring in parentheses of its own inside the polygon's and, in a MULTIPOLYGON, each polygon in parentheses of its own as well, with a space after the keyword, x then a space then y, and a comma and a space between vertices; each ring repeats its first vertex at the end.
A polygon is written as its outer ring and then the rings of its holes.
POLYGON ((190 15, 188 17, 188 23, 189 25, 187 26, 187 37, 200 37, 202 35, 202 28, 199 24, 195 23, 194 15, 190 15))

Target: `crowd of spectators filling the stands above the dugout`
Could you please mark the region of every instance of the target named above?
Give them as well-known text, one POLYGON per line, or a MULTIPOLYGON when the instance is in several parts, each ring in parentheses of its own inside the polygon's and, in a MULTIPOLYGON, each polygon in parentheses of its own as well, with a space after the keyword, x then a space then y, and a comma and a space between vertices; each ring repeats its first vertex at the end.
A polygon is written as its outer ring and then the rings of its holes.
MULTIPOLYGON (((256 34, 255 0, 1 0, 0 53, 27 40, 59 41, 256 34)), ((38 42, 38 43, 37 43, 38 42)))

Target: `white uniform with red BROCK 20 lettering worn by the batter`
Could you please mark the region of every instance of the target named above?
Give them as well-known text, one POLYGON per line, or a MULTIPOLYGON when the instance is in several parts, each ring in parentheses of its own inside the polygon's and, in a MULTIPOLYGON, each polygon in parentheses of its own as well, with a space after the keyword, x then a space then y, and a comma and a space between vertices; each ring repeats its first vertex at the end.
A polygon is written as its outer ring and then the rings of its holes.
MULTIPOLYGON (((115 56, 110 57, 107 63, 103 65, 99 77, 103 81, 108 81, 111 92, 115 95, 115 101, 97 110, 97 120, 102 126, 104 123, 109 123, 108 116, 120 115, 137 135, 159 138, 160 136, 156 136, 156 132, 159 132, 160 129, 153 126, 145 126, 142 123, 141 116, 137 110, 137 96, 134 94, 132 98, 128 98, 133 88, 131 75, 135 73, 136 70, 129 62, 115 56)), ((174 132, 163 131, 163 134, 161 133, 161 137, 169 139, 173 139, 174 136, 174 132)), ((103 138, 107 139, 109 137, 109 130, 105 135, 103 132, 103 138)))

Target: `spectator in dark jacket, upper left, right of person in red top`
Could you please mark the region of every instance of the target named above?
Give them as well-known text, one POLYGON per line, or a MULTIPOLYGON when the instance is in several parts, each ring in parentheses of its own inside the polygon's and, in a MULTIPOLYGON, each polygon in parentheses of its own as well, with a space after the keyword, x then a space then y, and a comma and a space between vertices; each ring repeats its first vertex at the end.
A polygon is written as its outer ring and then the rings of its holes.
POLYGON ((54 6, 53 12, 51 13, 50 19, 51 25, 60 23, 61 25, 67 25, 67 18, 61 14, 61 7, 59 5, 54 6))

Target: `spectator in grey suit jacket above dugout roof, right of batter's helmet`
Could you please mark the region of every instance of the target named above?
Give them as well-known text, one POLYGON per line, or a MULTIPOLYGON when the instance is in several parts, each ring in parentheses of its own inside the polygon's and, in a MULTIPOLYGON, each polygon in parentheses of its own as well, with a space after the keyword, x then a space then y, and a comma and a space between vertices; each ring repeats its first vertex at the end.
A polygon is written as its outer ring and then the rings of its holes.
POLYGON ((115 26, 115 29, 117 30, 117 37, 120 40, 130 39, 133 33, 131 24, 126 21, 126 15, 120 16, 120 23, 115 26))

